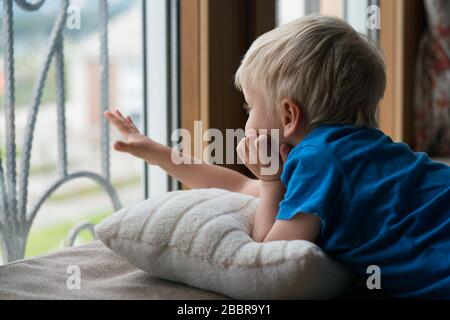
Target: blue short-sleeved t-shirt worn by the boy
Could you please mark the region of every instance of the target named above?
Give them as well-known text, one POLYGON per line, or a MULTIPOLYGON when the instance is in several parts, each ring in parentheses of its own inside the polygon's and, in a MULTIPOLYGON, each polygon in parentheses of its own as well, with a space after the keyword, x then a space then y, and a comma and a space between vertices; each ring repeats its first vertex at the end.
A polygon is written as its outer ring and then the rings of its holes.
POLYGON ((362 277, 381 270, 397 297, 450 299, 450 167, 380 130, 314 129, 281 176, 277 219, 321 218, 317 244, 362 277))

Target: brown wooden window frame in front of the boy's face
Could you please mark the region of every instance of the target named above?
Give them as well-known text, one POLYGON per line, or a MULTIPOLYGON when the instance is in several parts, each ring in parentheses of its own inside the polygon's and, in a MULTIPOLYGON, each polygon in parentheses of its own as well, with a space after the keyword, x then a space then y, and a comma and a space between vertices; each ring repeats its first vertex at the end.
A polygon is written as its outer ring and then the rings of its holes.
MULTIPOLYGON (((275 0, 183 0, 180 26, 182 128, 192 136, 195 121, 202 130, 244 128, 234 73, 253 40, 275 27, 275 0)), ((243 165, 224 166, 249 174, 243 165)))

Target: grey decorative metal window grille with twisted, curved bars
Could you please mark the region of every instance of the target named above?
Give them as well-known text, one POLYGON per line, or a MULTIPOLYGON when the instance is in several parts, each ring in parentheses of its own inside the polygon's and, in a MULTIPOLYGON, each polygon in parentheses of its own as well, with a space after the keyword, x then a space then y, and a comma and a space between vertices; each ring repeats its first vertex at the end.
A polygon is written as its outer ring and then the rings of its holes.
MULTIPOLYGON (((14 0, 27 11, 37 11, 45 3, 40 0, 29 3, 26 0, 14 0)), ((16 142, 15 142, 15 79, 14 79, 14 37, 13 37, 13 0, 3 0, 3 39, 5 48, 5 124, 6 124, 6 175, 3 171, 2 155, 0 154, 0 245, 3 248, 3 261, 8 263, 22 259, 32 223, 41 208, 53 192, 64 183, 77 178, 90 178, 103 187, 109 195, 114 210, 119 210, 121 204, 110 181, 109 157, 109 124, 103 117, 103 112, 109 107, 109 74, 108 74, 108 4, 107 0, 99 0, 100 16, 100 64, 101 64, 101 164, 102 175, 92 172, 68 173, 67 134, 65 117, 65 81, 64 81, 64 27, 67 18, 69 0, 61 0, 61 7, 44 56, 41 70, 34 87, 30 103, 23 155, 19 172, 19 190, 16 191, 16 142), (60 177, 38 198, 38 201, 27 210, 28 180, 30 158, 33 146, 33 135, 42 93, 47 80, 50 64, 55 63, 56 75, 56 106, 58 133, 58 169, 60 177)), ((78 233, 92 226, 83 223, 71 230, 68 243, 72 245, 78 233)))

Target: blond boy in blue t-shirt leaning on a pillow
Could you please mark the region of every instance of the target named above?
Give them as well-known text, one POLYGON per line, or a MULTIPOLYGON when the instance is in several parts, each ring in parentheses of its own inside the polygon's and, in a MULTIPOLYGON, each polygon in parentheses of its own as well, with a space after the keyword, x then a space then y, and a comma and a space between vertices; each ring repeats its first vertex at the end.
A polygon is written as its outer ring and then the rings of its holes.
POLYGON ((236 84, 248 103, 246 132, 279 130, 282 172, 263 175, 259 161, 248 161, 266 135, 238 145, 252 180, 208 164, 175 165, 170 148, 107 112, 126 139, 114 148, 189 187, 260 197, 255 241, 316 242, 361 277, 379 266, 393 296, 449 299, 450 167, 376 129, 386 86, 378 49, 341 19, 308 16, 258 38, 236 84))

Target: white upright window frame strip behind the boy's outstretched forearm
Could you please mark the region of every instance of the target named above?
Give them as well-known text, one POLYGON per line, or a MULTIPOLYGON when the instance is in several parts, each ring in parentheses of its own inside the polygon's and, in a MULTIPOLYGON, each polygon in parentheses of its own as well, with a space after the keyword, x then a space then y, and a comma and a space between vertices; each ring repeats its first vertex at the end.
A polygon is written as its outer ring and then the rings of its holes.
MULTIPOLYGON (((170 145, 179 121, 179 1, 144 1, 146 28, 146 120, 147 135, 170 145)), ((146 167, 146 195, 180 188, 159 167, 146 167)))

